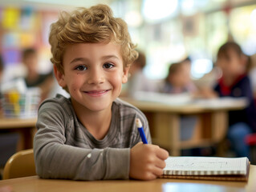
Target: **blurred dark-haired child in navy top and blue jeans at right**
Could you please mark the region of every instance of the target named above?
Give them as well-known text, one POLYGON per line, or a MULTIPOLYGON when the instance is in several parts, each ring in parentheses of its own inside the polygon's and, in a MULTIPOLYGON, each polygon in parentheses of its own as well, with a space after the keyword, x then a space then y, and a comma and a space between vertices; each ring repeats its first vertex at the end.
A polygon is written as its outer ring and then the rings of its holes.
POLYGON ((226 42, 217 52, 217 66, 222 77, 214 90, 219 97, 247 98, 249 105, 245 110, 234 110, 229 113, 228 138, 238 157, 249 157, 249 147, 245 137, 256 129, 255 106, 250 79, 247 76, 249 58, 242 53, 235 42, 226 42))

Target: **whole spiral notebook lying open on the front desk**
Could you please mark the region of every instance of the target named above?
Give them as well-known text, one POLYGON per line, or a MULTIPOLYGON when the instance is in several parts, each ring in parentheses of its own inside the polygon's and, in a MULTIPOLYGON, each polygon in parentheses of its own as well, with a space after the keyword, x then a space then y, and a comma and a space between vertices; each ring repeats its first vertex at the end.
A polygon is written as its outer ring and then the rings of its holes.
POLYGON ((248 158, 169 157, 161 178, 247 181, 248 158))

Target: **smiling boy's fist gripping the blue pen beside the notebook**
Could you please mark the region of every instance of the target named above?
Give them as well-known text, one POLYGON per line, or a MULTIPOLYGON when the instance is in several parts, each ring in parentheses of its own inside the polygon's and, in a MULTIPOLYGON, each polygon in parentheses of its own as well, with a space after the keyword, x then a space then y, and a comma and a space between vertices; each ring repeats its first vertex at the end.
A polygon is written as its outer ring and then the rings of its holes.
POLYGON ((130 178, 151 180, 163 174, 165 159, 169 157, 166 150, 159 146, 139 142, 133 146, 130 154, 130 178))

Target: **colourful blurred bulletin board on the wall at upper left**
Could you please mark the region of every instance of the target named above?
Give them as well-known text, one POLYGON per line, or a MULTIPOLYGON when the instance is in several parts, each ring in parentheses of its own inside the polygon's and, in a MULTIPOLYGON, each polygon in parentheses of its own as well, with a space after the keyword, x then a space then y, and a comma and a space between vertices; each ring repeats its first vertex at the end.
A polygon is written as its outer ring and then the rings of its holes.
POLYGON ((22 50, 35 48, 50 53, 48 34, 58 12, 32 7, 0 7, 0 54, 5 66, 21 63, 22 50))

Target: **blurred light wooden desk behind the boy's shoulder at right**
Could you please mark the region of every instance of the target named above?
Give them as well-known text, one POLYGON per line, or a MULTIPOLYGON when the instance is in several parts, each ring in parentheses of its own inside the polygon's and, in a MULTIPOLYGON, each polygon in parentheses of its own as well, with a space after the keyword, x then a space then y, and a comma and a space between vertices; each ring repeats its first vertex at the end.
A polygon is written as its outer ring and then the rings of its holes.
MULTIPOLYGON (((242 110, 246 107, 246 102, 243 101, 234 101, 226 105, 220 103, 218 106, 213 102, 175 106, 161 102, 136 101, 131 98, 122 99, 144 112, 148 118, 152 142, 169 150, 173 156, 180 156, 181 149, 212 146, 221 142, 228 128, 228 111, 242 110), (180 139, 181 115, 197 115, 192 138, 185 141, 180 139)), ((218 150, 218 153, 221 155, 221 150, 218 150)))

